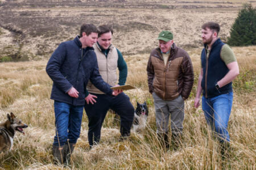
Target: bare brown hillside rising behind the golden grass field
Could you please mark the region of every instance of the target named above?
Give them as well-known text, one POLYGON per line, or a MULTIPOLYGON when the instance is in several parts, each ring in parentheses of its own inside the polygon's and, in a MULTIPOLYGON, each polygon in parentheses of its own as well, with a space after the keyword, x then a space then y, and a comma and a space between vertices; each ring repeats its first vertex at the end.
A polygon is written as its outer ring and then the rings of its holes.
POLYGON ((114 44, 124 54, 149 53, 163 29, 174 33, 179 46, 196 48, 208 20, 220 23, 225 41, 241 6, 241 1, 0 1, 0 58, 48 58, 85 22, 112 24, 114 44))

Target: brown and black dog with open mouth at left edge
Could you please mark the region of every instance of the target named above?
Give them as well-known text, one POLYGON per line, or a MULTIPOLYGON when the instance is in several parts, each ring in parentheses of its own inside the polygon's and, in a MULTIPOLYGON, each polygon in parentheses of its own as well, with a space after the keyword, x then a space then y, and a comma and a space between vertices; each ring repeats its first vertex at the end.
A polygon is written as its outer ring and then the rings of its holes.
POLYGON ((0 152, 11 150, 15 131, 24 134, 23 128, 27 128, 27 125, 16 118, 13 113, 7 114, 7 120, 0 124, 0 152))

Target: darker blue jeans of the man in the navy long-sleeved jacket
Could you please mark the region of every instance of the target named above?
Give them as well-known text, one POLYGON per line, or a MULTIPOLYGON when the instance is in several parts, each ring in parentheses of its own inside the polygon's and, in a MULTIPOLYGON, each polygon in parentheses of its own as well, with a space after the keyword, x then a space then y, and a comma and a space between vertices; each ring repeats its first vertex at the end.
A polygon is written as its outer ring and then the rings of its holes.
POLYGON ((80 136, 83 106, 54 101, 56 135, 54 146, 63 146, 69 140, 76 143, 80 136))

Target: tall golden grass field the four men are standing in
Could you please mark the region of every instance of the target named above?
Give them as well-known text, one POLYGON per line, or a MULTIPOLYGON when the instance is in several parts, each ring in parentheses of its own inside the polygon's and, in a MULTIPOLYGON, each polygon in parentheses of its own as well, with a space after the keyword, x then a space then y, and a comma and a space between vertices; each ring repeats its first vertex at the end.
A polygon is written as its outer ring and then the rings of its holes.
MULTIPOLYGON (((200 70, 199 48, 188 51, 195 74, 200 70)), ((231 150, 221 159, 220 147, 209 130, 202 109, 193 108, 196 83, 185 101, 183 142, 179 150, 165 151, 156 138, 154 101, 148 92, 146 65, 149 54, 125 56, 129 73, 127 91, 131 103, 147 101, 149 117, 141 133, 119 142, 119 121, 108 113, 100 145, 89 150, 88 120, 84 114, 81 135, 69 167, 53 164, 51 147, 55 135, 52 81, 46 60, 0 63, 0 121, 13 112, 28 124, 25 135, 16 133, 13 150, 0 154, 0 169, 255 169, 255 71, 256 46, 233 48, 240 66, 234 80, 234 101, 229 121, 231 150)), ((196 78, 197 79, 197 78, 196 78)))

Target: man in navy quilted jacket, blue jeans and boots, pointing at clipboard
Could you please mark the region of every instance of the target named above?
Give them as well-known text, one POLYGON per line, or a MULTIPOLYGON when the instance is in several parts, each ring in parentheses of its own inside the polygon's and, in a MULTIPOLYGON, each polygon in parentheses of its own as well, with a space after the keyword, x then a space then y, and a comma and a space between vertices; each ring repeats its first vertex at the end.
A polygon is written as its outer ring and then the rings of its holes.
POLYGON ((93 24, 82 24, 80 36, 62 42, 49 59, 46 72, 53 81, 56 135, 52 152, 55 163, 68 164, 80 136, 85 90, 88 80, 107 95, 118 95, 110 89, 98 71, 93 44, 98 30, 93 24))

